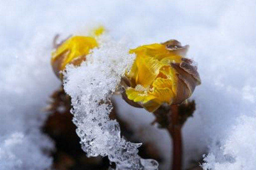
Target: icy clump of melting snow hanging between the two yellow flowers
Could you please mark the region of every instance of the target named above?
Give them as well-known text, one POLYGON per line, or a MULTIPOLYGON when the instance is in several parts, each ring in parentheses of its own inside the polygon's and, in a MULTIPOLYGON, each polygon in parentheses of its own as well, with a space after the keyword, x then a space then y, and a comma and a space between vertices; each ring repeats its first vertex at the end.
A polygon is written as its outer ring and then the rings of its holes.
POLYGON ((134 55, 123 42, 100 38, 100 48, 87 56, 80 67, 67 66, 64 89, 72 98, 73 122, 87 156, 108 156, 117 170, 157 170, 153 159, 142 159, 140 143, 126 141, 120 127, 111 120, 110 96, 116 91, 125 71, 131 67, 134 55))

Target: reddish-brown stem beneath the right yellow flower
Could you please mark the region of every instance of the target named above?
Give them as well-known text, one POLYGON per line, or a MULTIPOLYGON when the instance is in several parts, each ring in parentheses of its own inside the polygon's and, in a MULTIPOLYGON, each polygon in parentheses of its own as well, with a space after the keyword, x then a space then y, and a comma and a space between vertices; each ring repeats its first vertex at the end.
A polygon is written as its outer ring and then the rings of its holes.
POLYGON ((181 170, 182 167, 182 135, 181 125, 179 122, 178 105, 172 105, 170 109, 170 120, 168 131, 172 137, 173 154, 172 154, 172 170, 181 170))

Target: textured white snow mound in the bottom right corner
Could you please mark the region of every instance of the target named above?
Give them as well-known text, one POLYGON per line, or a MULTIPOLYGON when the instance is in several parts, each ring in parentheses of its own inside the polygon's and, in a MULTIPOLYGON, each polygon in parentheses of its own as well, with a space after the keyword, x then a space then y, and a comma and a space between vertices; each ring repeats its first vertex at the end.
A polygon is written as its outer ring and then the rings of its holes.
POLYGON ((215 154, 209 153, 205 157, 207 163, 205 169, 215 170, 253 170, 256 156, 256 118, 250 116, 240 116, 239 122, 234 125, 229 135, 222 140, 215 154), (250 135, 246 135, 247 134, 250 135))

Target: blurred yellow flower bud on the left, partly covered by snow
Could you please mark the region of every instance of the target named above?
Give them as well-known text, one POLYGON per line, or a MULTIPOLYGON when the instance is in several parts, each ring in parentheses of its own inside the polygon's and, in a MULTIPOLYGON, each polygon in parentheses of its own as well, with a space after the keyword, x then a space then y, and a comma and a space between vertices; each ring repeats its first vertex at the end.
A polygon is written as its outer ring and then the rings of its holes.
POLYGON ((55 74, 62 78, 60 71, 63 71, 67 64, 80 65, 86 60, 87 54, 93 48, 99 46, 96 37, 105 31, 104 27, 93 30, 92 36, 72 36, 56 46, 52 52, 51 64, 55 74))

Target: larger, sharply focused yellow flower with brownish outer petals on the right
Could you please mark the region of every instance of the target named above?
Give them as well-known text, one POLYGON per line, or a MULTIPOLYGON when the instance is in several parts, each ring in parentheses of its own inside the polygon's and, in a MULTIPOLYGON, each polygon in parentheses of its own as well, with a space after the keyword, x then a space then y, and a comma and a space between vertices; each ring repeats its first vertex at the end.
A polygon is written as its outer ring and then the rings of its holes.
POLYGON ((188 47, 169 40, 131 49, 136 59, 125 75, 123 96, 150 112, 163 103, 179 104, 191 96, 200 77, 192 60, 184 58, 188 47))

